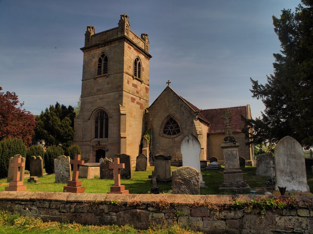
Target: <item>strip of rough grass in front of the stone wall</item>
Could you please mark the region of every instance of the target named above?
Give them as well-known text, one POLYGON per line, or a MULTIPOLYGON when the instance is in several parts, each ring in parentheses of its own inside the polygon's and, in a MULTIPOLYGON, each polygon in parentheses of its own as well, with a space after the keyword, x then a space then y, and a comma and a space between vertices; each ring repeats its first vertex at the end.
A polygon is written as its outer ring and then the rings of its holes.
POLYGON ((131 226, 86 226, 78 223, 42 222, 40 218, 26 217, 19 214, 10 214, 0 210, 0 233, 39 234, 39 233, 103 233, 103 234, 203 234, 179 225, 171 227, 151 228, 149 230, 136 230, 131 226))

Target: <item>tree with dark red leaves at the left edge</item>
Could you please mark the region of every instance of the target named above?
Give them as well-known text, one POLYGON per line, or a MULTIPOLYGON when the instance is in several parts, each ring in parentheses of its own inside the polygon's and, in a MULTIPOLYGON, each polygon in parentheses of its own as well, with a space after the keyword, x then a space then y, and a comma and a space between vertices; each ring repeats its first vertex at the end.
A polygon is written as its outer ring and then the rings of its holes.
POLYGON ((0 87, 0 140, 16 137, 22 139, 26 145, 31 145, 36 126, 32 113, 22 109, 24 102, 19 102, 15 92, 4 93, 1 90, 2 87, 0 87))

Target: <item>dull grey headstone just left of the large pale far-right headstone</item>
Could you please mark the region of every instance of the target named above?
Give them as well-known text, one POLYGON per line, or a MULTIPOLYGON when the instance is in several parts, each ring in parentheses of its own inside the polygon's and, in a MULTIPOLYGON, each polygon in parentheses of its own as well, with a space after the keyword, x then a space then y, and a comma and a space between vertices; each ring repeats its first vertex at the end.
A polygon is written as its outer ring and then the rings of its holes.
POLYGON ((275 176, 275 163, 272 154, 260 154, 256 158, 256 174, 259 176, 275 176))

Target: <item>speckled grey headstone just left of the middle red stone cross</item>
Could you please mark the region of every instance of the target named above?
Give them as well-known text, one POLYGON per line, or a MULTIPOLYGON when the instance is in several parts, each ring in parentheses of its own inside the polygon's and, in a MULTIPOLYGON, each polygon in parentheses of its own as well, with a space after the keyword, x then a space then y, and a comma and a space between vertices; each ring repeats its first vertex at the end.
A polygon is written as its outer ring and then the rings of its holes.
POLYGON ((56 183, 67 183, 72 179, 70 157, 60 155, 54 159, 54 174, 56 183))

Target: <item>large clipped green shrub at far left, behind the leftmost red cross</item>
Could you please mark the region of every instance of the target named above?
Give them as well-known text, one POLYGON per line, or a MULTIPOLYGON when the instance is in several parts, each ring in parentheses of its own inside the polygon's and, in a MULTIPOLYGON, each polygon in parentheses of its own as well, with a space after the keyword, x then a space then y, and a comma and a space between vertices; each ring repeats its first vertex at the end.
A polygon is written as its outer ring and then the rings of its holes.
POLYGON ((26 156, 26 145, 18 138, 5 138, 0 141, 0 178, 8 176, 9 159, 15 154, 26 156))

